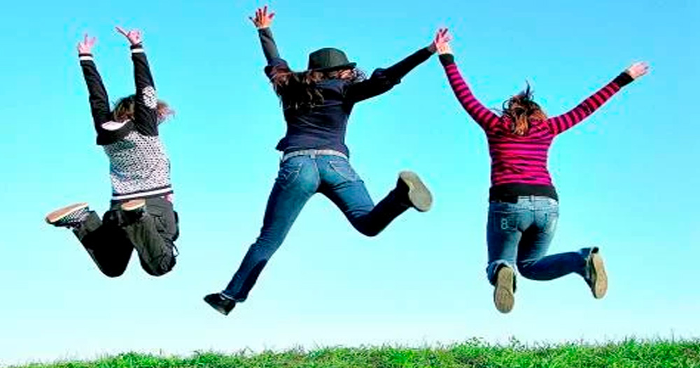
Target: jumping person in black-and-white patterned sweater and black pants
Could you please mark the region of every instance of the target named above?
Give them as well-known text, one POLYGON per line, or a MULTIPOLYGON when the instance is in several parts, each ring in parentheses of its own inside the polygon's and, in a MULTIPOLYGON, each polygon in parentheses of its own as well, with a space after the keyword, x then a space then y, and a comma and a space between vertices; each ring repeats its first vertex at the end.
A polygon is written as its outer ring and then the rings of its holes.
POLYGON ((134 248, 148 274, 166 274, 175 265, 177 214, 172 205, 170 162, 158 136, 158 124, 172 110, 159 101, 141 43, 141 32, 117 28, 131 45, 136 94, 120 99, 113 111, 92 58, 95 38, 78 43, 97 145, 109 158, 112 200, 101 220, 86 203, 51 212, 46 221, 71 228, 99 270, 123 274, 134 248))

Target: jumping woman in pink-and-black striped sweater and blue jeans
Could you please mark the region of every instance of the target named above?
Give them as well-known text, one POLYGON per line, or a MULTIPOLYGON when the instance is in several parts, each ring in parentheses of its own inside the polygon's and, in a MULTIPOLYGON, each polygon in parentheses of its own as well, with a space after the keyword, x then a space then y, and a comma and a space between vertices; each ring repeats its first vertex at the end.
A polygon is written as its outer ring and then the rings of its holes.
POLYGON ((494 286, 496 308, 507 313, 513 307, 514 265, 523 277, 533 280, 551 280, 575 272, 587 282, 594 297, 603 297, 608 278, 598 248, 547 256, 559 217, 559 198, 547 171, 547 151, 556 135, 581 122, 619 89, 647 73, 647 65, 633 64, 563 115, 547 117, 533 101, 528 86, 505 101, 503 115, 498 116, 472 95, 454 63, 448 41, 444 38, 437 50, 449 84, 489 141, 491 189, 486 273, 494 286))

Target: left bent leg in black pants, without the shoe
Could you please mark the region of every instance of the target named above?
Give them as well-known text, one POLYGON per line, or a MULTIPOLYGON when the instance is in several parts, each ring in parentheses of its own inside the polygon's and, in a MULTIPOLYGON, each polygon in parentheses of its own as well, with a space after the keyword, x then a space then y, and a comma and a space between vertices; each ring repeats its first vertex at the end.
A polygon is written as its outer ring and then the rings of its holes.
POLYGON ((118 226, 114 212, 106 212, 104 221, 101 221, 91 211, 83 223, 73 228, 73 233, 103 274, 118 277, 124 273, 134 246, 127 233, 118 226))

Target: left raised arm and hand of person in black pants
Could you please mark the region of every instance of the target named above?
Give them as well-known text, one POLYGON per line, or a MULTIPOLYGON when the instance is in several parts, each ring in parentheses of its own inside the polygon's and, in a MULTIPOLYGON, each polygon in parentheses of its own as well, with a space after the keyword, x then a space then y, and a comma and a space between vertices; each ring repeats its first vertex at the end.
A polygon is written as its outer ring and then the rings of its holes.
POLYGON ((107 91, 92 57, 92 46, 94 46, 96 41, 96 38, 90 38, 90 36, 85 34, 83 41, 78 43, 78 58, 80 59, 80 68, 83 69, 83 76, 87 84, 87 92, 90 94, 92 121, 94 122, 95 131, 99 132, 100 126, 111 120, 111 114, 109 112, 107 91))

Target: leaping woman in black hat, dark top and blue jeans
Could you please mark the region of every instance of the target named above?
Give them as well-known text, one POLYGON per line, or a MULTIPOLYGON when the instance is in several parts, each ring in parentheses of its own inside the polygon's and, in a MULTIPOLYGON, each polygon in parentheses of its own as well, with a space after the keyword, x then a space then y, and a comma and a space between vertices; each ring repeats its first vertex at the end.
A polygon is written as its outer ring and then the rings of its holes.
MULTIPOLYGON (((409 207, 426 212, 432 203, 430 191, 421 179, 414 172, 403 171, 398 175, 395 189, 375 206, 365 184, 348 162, 344 138, 353 105, 398 84, 403 76, 435 53, 435 43, 394 66, 375 70, 367 79, 344 52, 335 48, 311 52, 308 70, 296 73, 279 57, 269 29, 272 17, 274 13, 267 13, 265 6, 251 20, 258 28, 267 59, 265 74, 281 100, 287 133, 276 147, 283 156, 260 237, 248 249, 225 290, 204 297, 222 314, 228 314, 237 302, 246 300, 260 271, 314 193, 332 200, 352 226, 367 236, 379 234, 409 207)), ((442 36, 444 32, 437 37, 442 36)))

